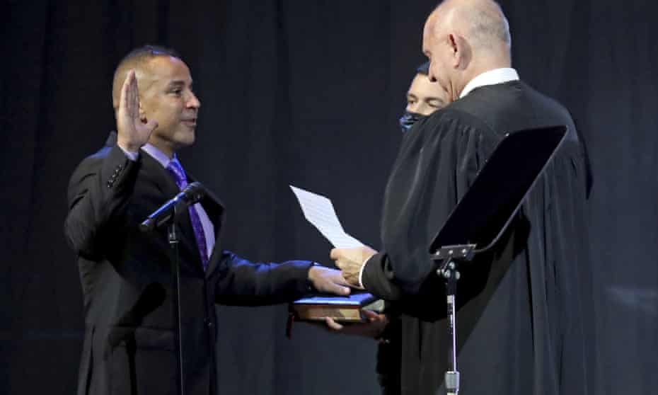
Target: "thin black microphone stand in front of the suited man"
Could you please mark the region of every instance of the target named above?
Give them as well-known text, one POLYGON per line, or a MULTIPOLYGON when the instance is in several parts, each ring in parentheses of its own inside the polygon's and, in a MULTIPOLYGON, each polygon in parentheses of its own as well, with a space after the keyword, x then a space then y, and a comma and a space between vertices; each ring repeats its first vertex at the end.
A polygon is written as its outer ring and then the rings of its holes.
POLYGON ((173 207, 173 215, 167 221, 167 234, 169 246, 173 252, 171 260, 171 275, 173 287, 171 287, 171 316, 174 321, 174 340, 176 353, 176 384, 178 384, 178 395, 185 395, 185 374, 183 372, 183 340, 181 338, 182 323, 180 321, 180 256, 178 253, 178 233, 174 219, 178 216, 179 205, 173 207))

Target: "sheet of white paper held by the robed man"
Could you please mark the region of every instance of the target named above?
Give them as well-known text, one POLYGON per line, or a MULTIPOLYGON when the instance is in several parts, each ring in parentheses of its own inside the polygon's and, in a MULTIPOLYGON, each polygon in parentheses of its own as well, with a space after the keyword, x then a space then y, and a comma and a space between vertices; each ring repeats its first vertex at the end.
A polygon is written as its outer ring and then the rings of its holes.
POLYGON ((323 234, 335 248, 354 248, 363 246, 361 241, 345 233, 336 216, 331 200, 323 195, 308 192, 290 185, 299 200, 304 217, 323 234))

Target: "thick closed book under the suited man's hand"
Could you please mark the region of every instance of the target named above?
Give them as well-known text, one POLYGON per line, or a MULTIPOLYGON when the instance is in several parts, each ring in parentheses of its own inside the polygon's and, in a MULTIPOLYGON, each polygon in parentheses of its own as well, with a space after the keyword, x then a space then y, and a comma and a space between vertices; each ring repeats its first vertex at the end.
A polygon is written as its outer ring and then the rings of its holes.
POLYGON ((367 292, 347 297, 313 296, 297 299, 290 304, 296 320, 323 321, 329 317, 337 322, 366 321, 363 310, 381 311, 383 301, 367 292))

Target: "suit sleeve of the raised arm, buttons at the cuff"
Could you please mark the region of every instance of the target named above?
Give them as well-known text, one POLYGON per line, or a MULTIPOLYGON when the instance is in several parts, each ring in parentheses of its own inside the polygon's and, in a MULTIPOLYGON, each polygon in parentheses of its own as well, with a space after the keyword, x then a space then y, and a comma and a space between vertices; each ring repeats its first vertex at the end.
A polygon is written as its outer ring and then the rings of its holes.
POLYGON ((64 234, 74 251, 94 257, 100 235, 110 222, 121 222, 134 187, 138 162, 118 147, 105 147, 76 168, 68 189, 69 212, 64 234))

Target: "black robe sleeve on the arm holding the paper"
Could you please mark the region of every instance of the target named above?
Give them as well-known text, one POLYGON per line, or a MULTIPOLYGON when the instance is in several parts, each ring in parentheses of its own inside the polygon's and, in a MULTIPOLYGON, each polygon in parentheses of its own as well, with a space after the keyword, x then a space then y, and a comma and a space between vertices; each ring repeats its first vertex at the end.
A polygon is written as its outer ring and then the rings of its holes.
POLYGON ((383 251, 364 268, 366 290, 399 300, 434 282, 429 245, 500 138, 458 110, 439 110, 407 133, 384 197, 383 251))

